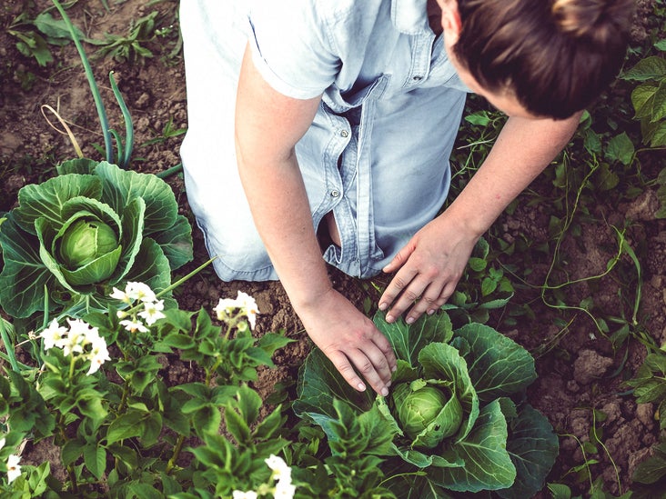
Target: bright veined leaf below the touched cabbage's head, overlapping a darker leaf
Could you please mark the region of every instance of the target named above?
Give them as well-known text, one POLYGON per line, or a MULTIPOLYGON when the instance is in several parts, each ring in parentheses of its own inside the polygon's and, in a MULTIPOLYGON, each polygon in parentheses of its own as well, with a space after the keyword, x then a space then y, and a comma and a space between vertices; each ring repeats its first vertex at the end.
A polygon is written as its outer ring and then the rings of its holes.
POLYGON ((495 400, 481 409, 477 424, 465 440, 449 454, 461 458, 462 467, 430 468, 429 478, 453 491, 479 492, 509 487, 516 479, 516 467, 506 450, 507 422, 495 400))

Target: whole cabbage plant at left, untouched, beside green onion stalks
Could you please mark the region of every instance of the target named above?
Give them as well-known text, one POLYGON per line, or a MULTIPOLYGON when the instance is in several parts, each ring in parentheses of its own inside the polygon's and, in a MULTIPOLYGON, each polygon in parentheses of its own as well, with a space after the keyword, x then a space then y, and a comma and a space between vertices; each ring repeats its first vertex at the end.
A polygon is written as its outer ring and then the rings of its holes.
POLYGON ((156 175, 87 159, 25 185, 0 225, 0 305, 14 317, 106 309, 114 285, 156 291, 192 260, 192 229, 156 175))

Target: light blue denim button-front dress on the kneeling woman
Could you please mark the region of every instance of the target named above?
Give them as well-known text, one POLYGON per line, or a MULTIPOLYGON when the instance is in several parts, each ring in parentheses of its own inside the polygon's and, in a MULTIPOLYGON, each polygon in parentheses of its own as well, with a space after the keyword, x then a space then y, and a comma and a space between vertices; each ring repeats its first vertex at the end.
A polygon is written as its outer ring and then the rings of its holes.
POLYGON ((330 264, 378 274, 438 214, 468 89, 429 28, 426 0, 183 0, 181 24, 187 195, 222 279, 277 278, 254 227, 241 222, 249 214, 242 190, 212 188, 239 185, 233 122, 220 114, 232 109, 247 42, 279 93, 322 95, 297 156, 313 224, 335 215, 342 245, 326 250, 330 264), (237 218, 219 220, 235 216, 230 209, 237 218))

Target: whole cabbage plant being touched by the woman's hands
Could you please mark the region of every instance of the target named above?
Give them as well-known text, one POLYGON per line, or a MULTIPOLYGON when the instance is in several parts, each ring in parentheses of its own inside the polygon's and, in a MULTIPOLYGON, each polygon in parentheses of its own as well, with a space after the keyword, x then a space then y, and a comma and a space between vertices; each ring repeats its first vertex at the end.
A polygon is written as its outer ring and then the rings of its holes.
POLYGON ((384 484, 398 497, 538 492, 559 445, 548 420, 519 403, 536 378, 530 353, 487 325, 454 331, 445 313, 412 325, 383 317, 375 324, 398 357, 389 395, 357 392, 315 349, 298 376, 296 414, 321 425, 331 449, 346 432, 340 403, 372 422, 368 442, 392 434, 389 447, 367 452, 383 458, 384 484))

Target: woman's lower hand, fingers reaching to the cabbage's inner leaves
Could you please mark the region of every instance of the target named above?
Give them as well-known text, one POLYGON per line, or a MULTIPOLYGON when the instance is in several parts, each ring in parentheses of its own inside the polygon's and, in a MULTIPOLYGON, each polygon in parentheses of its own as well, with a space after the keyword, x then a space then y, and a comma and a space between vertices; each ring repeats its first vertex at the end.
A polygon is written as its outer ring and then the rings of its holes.
POLYGON ((389 340, 375 324, 330 288, 312 304, 297 313, 310 339, 326 354, 339 373, 354 389, 362 392, 366 384, 381 395, 389 394, 396 355, 389 340))

